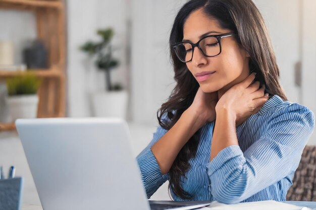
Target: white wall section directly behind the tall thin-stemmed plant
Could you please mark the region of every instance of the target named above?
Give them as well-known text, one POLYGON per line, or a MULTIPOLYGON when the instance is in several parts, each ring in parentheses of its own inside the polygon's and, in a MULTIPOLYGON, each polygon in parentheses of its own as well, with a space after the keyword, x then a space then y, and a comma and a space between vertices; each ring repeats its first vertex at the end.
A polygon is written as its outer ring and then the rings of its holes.
POLYGON ((113 81, 128 84, 127 16, 128 1, 68 0, 68 116, 91 116, 90 93, 105 90, 104 73, 97 71, 93 61, 79 47, 87 40, 97 40, 96 30, 113 27, 114 56, 120 66, 112 72, 113 81))

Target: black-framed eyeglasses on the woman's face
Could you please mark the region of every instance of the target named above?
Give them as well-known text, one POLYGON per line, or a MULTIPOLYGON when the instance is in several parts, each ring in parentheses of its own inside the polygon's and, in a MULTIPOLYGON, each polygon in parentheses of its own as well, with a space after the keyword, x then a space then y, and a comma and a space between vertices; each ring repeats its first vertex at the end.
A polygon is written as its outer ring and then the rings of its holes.
POLYGON ((218 35, 208 35, 201 38, 195 44, 192 42, 177 42, 172 47, 176 52, 177 57, 182 62, 189 62, 193 58, 193 51, 198 47, 205 57, 214 57, 222 52, 221 39, 236 35, 234 32, 218 35))

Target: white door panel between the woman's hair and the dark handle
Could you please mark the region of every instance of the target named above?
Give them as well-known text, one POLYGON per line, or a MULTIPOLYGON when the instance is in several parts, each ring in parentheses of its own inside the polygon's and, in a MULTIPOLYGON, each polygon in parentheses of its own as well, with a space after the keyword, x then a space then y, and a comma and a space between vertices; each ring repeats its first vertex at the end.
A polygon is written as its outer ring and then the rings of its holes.
POLYGON ((280 68, 280 80, 288 99, 300 102, 295 85, 295 65, 300 61, 300 0, 253 1, 264 17, 280 68))

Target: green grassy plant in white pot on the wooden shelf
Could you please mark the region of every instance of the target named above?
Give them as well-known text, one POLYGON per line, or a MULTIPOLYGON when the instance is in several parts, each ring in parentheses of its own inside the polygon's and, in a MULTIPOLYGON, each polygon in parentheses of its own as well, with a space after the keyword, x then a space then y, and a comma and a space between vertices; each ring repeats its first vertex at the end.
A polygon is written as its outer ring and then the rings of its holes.
POLYGON ((6 103, 13 121, 18 118, 35 118, 37 115, 37 90, 41 80, 31 73, 24 73, 6 80, 6 103))

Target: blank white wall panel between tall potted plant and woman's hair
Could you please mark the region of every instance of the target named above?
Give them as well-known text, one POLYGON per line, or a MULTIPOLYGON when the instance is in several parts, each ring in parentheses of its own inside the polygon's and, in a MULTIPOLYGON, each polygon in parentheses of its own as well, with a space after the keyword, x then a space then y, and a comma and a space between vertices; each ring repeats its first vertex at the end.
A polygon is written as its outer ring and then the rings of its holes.
POLYGON ((156 111, 175 86, 169 35, 186 1, 132 2, 132 116, 136 122, 156 124, 156 111))

